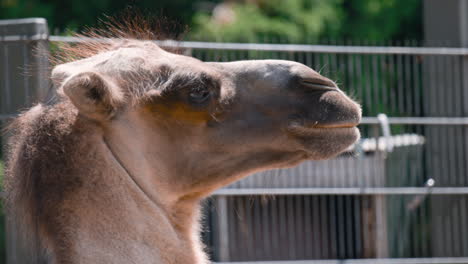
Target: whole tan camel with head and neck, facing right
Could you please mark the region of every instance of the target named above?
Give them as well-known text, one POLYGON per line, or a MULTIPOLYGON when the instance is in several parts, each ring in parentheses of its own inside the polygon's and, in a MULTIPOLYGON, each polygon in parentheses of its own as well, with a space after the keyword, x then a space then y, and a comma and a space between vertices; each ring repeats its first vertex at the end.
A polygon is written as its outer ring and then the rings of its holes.
POLYGON ((52 70, 58 102, 10 129, 7 204, 31 263, 209 263, 202 199, 360 136, 360 106, 297 62, 202 62, 129 38, 75 52, 52 70))

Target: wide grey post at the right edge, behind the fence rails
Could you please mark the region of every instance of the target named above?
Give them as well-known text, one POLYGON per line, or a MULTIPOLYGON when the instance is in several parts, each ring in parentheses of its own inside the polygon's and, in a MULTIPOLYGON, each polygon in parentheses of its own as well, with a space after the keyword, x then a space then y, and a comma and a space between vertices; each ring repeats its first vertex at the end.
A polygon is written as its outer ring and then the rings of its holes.
MULTIPOLYGON (((468 1, 425 0, 423 4, 424 33, 430 46, 468 47, 468 1)), ((455 59, 445 56, 431 57, 425 58, 423 72, 425 81, 423 101, 427 105, 425 114, 444 117, 468 116, 468 57, 461 56, 455 59), (448 67, 435 67, 435 65, 448 65, 448 67), (445 101, 442 101, 443 98, 445 101)), ((427 128, 426 133, 427 147, 433 155, 432 160, 428 162, 432 166, 428 170, 428 178, 434 178, 438 187, 466 185, 468 168, 466 166, 453 168, 443 155, 462 153, 453 162, 458 164, 468 162, 466 155, 468 143, 462 139, 468 137, 468 128, 439 126, 427 128), (462 135, 461 141, 460 138, 447 136, 453 134, 462 135)), ((445 231, 444 227, 456 225, 459 219, 467 217, 466 210, 457 209, 463 208, 464 201, 467 200, 467 196, 461 199, 453 196, 433 199, 430 205, 432 230, 445 231)), ((456 247, 462 247, 461 251, 466 254, 468 244, 459 243, 463 241, 463 235, 460 232, 453 233, 452 240, 447 242, 444 232, 434 232, 431 239, 432 256, 455 256, 460 254, 456 252, 456 247)))

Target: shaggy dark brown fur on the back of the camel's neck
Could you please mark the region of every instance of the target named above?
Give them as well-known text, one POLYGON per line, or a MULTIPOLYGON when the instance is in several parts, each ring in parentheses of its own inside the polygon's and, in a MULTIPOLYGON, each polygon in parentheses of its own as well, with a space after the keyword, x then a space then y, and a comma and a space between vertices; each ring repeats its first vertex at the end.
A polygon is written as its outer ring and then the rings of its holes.
POLYGON ((38 228, 40 223, 59 227, 53 223, 60 221, 61 216, 51 211, 60 206, 58 201, 83 184, 82 178, 71 173, 79 166, 75 161, 81 160, 78 155, 83 150, 83 131, 75 123, 76 116, 76 109, 65 101, 54 107, 36 106, 10 125, 6 204, 10 217, 23 228, 22 239, 33 243, 24 246, 40 246, 34 245, 38 237, 44 237, 37 233, 43 230, 38 228))

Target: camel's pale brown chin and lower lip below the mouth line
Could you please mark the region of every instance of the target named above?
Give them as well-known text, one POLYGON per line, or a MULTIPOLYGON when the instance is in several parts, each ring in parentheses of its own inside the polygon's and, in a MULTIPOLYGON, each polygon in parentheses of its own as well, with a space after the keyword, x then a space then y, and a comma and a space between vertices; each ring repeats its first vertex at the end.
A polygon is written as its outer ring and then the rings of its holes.
POLYGON ((293 134, 309 160, 333 158, 360 138, 357 127, 296 128, 293 134))

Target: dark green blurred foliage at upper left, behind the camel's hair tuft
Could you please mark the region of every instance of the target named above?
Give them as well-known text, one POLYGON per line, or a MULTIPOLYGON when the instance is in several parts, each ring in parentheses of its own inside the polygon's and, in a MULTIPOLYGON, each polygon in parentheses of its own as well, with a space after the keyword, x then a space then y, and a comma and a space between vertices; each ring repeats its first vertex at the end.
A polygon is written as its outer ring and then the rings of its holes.
POLYGON ((176 21, 174 33, 185 31, 194 13, 192 0, 0 0, 0 19, 44 17, 51 32, 77 31, 95 26, 104 16, 116 16, 137 8, 161 20, 176 21))

